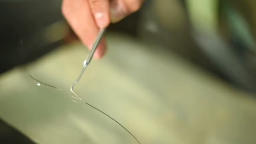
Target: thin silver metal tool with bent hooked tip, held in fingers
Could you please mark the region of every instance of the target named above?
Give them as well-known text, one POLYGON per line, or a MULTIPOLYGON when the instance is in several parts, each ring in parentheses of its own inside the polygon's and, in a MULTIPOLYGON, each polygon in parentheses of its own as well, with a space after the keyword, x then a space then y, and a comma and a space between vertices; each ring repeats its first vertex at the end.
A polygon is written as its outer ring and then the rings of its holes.
MULTIPOLYGON (((81 79, 84 71, 85 71, 85 68, 88 66, 88 64, 91 62, 91 59, 93 58, 93 54, 95 53, 96 51, 96 48, 98 47, 99 45, 99 42, 101 41, 101 38, 103 37, 104 33, 106 32, 107 28, 104 28, 104 29, 100 29, 96 39, 94 40, 93 42, 93 46, 92 46, 92 49, 91 49, 91 52, 89 53, 89 55, 87 56, 87 58, 85 59, 85 61, 83 62, 83 69, 82 71, 80 72, 80 75, 77 77, 77 80, 75 81, 75 83, 71 86, 70 88, 70 91, 72 93, 75 94, 75 98, 76 99, 79 99, 81 101, 83 101, 83 99, 74 91, 74 86, 79 82, 79 80, 81 79)), ((85 101, 83 101, 85 102, 85 101)))

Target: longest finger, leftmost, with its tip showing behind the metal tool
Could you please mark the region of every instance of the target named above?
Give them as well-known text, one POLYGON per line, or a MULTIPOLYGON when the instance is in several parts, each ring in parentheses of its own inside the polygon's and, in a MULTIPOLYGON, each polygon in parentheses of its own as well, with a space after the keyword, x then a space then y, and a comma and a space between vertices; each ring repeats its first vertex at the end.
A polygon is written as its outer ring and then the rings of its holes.
MULTIPOLYGON (((70 26, 89 49, 99 32, 99 27, 94 21, 88 0, 63 0, 62 13, 70 26)), ((101 58, 106 50, 104 40, 99 44, 95 55, 96 59, 101 58)))

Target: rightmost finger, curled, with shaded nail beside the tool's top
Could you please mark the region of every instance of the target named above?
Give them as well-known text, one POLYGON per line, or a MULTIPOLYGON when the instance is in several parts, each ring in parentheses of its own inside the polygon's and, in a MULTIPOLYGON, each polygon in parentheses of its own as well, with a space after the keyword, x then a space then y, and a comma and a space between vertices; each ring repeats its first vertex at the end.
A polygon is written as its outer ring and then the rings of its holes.
POLYGON ((115 23, 139 10, 143 0, 112 0, 111 22, 115 23))

